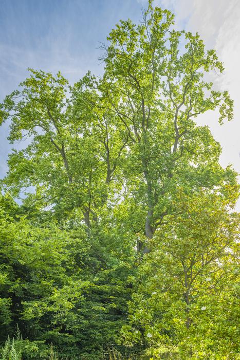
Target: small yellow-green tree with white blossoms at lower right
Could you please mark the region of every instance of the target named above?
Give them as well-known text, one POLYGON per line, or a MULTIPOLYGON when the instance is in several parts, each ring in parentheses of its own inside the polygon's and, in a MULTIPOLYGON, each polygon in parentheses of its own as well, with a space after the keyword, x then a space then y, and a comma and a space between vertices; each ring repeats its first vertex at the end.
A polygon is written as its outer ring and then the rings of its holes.
POLYGON ((229 201, 179 189, 178 213, 166 217, 141 264, 127 344, 151 334, 151 346, 166 354, 177 347, 180 358, 236 358, 239 215, 228 211, 236 188, 225 190, 229 201))

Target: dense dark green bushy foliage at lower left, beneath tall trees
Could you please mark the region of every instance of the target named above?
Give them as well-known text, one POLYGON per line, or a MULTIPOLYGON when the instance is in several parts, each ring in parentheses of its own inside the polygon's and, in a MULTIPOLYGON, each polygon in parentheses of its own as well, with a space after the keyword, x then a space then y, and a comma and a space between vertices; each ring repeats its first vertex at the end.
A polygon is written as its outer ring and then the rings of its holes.
POLYGON ((24 337, 45 348, 53 343, 70 358, 77 345, 94 356, 114 341, 130 293, 122 286, 124 263, 101 255, 84 232, 50 223, 40 228, 23 217, 2 218, 0 234, 2 340, 17 321, 24 337))

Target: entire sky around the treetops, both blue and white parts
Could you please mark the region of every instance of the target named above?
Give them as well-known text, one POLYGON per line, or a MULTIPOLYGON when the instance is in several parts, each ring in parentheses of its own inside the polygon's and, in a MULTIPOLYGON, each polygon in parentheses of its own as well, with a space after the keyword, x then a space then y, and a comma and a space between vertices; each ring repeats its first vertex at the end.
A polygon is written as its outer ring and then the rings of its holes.
MULTIPOLYGON (((221 143, 222 166, 240 172, 240 2, 238 0, 155 0, 175 13, 176 26, 198 31, 207 47, 214 47, 226 71, 211 78, 229 89, 235 101, 234 120, 223 127, 217 114, 200 116, 221 143)), ((120 20, 141 20, 147 0, 0 0, 0 102, 27 76, 27 68, 63 75, 73 83, 87 70, 99 75, 101 42, 120 20)), ((0 178, 7 171, 8 126, 0 127, 0 178)), ((20 145, 16 145, 19 147, 20 145)), ((240 209, 240 203, 239 203, 240 209)))

